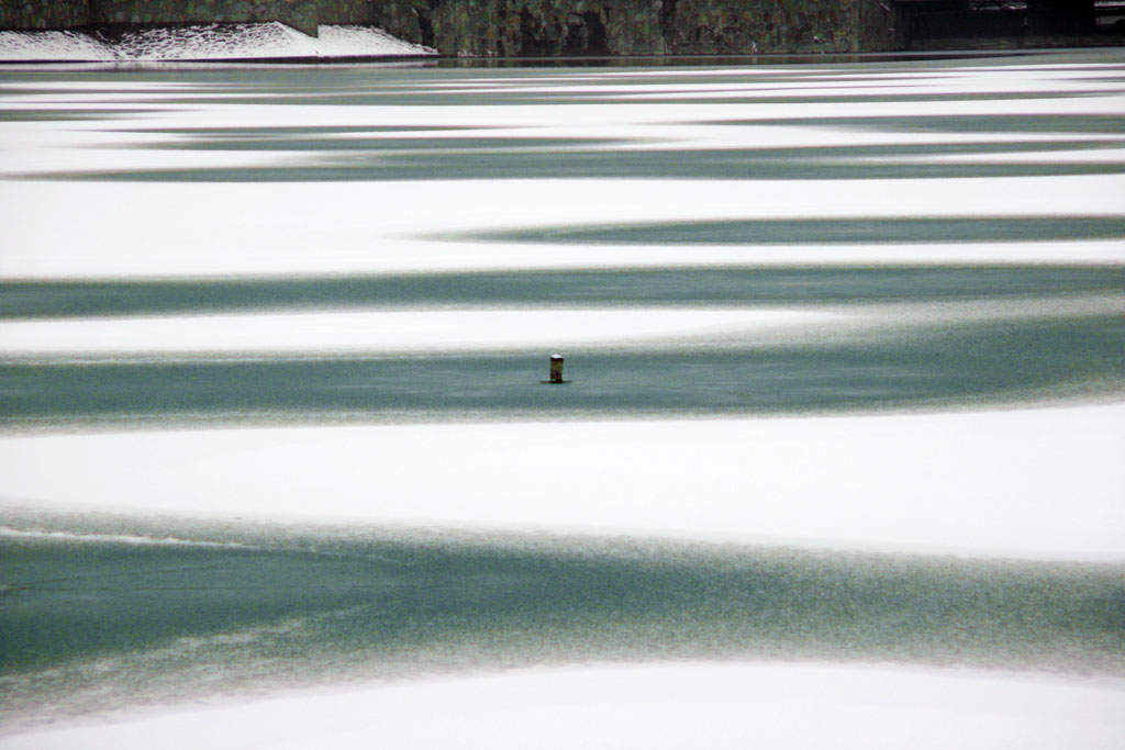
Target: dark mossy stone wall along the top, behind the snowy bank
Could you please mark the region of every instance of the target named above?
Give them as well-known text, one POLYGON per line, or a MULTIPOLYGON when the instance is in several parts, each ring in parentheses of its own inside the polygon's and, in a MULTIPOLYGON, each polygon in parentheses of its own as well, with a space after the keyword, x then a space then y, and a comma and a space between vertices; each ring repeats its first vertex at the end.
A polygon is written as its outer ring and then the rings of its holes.
POLYGON ((278 20, 374 24, 448 55, 866 52, 894 45, 880 0, 0 0, 0 28, 278 20))

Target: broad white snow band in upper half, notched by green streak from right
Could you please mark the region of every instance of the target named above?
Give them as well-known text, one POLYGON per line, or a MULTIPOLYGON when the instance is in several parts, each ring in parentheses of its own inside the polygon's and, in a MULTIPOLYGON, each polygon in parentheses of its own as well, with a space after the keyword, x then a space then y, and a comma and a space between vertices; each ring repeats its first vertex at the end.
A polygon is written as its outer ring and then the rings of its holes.
MULTIPOLYGON (((14 150, 18 143, 12 141, 14 150)), ((111 153, 101 150, 98 159, 111 153)), ((140 153, 146 162, 164 159, 162 152, 140 153)), ((68 159, 76 166, 83 152, 72 151, 68 159)), ((99 183, 97 190, 63 181, 9 182, 0 186, 0 222, 6 234, 0 278, 278 277, 708 264, 1120 264, 1125 262, 1122 240, 735 246, 465 240, 510 229, 676 220, 994 218, 1044 211, 1114 217, 1122 214, 1123 184, 1120 175, 800 184, 630 180, 628 189, 618 180, 493 180, 487 190, 468 180, 166 183, 160 190, 112 182, 99 183), (56 219, 54 207, 60 205, 68 207, 65 222, 56 219), (206 220, 186 217, 184 206, 206 220), (132 231, 123 233, 122 226, 132 231), (81 243, 73 242, 75 232, 81 233, 81 243)))

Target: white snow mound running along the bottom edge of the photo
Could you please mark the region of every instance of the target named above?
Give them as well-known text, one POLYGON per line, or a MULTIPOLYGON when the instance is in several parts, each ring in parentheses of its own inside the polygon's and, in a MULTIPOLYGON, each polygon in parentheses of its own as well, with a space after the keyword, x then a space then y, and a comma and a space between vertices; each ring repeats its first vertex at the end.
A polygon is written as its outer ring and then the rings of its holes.
POLYGON ((1125 685, 980 671, 680 663, 360 686, 0 739, 4 750, 1110 750, 1125 685))

